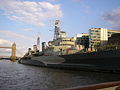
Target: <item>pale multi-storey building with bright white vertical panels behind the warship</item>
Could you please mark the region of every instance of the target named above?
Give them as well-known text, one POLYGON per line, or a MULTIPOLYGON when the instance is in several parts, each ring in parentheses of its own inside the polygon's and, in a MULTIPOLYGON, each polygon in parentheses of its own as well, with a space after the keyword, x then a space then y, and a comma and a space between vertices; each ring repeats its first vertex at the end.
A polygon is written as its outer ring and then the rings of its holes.
POLYGON ((120 31, 109 30, 106 28, 91 28, 89 29, 89 46, 96 48, 107 44, 108 38, 114 33, 120 33, 120 31))

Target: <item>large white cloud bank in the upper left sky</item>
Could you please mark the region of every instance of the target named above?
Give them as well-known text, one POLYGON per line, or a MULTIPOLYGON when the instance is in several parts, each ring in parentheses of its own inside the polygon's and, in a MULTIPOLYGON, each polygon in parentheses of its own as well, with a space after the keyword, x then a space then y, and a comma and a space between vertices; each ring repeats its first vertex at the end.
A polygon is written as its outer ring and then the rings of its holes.
POLYGON ((4 10, 10 20, 21 21, 27 24, 44 26, 44 21, 62 17, 59 4, 49 2, 0 0, 0 9, 4 10))

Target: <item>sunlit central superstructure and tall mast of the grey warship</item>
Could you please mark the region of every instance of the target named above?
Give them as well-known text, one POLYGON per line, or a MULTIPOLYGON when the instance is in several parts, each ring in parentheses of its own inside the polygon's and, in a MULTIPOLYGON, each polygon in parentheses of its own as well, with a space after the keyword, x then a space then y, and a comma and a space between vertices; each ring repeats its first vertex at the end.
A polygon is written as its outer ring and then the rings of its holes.
POLYGON ((45 55, 65 55, 77 52, 75 38, 67 37, 66 32, 60 29, 60 23, 60 20, 55 21, 54 39, 49 41, 47 48, 43 50, 45 55))

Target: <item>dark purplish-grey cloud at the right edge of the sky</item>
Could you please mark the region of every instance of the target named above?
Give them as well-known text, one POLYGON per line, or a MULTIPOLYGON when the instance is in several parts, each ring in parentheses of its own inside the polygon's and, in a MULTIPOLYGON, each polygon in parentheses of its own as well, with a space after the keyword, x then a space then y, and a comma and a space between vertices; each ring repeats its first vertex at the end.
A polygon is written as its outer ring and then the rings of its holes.
POLYGON ((120 7, 113 9, 112 11, 105 13, 103 19, 115 28, 120 29, 120 7))

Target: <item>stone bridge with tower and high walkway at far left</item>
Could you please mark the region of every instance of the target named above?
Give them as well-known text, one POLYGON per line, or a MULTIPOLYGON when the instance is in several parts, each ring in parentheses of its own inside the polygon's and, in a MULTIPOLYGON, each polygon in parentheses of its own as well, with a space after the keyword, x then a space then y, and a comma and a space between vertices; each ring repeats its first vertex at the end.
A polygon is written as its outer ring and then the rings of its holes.
MULTIPOLYGON (((13 61, 13 62, 16 61, 16 44, 15 44, 15 43, 13 43, 11 47, 0 46, 0 48, 11 49, 12 52, 11 52, 10 59, 11 59, 11 61, 13 61)), ((3 56, 1 56, 1 57, 3 57, 3 56)), ((6 57, 6 56, 5 56, 5 57, 6 57)))

